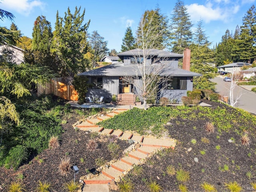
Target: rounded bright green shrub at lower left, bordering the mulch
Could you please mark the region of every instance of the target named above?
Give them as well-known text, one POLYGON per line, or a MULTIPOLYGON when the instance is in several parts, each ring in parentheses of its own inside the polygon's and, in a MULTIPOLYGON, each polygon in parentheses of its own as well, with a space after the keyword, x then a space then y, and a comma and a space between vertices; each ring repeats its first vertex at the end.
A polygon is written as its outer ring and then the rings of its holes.
POLYGON ((25 146, 17 145, 12 147, 5 159, 4 166, 6 168, 13 168, 14 170, 17 170, 23 162, 28 160, 28 156, 28 149, 25 146))

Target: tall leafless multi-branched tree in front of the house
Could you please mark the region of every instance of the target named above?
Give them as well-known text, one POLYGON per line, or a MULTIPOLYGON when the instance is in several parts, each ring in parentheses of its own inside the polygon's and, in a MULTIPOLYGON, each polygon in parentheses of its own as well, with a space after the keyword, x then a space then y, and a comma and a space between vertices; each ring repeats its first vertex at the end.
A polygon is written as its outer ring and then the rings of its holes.
POLYGON ((137 51, 134 52, 132 58, 136 75, 122 77, 124 83, 135 86, 136 93, 144 102, 144 109, 146 109, 146 101, 156 99, 157 95, 168 86, 168 81, 172 79, 170 68, 167 71, 169 65, 161 63, 162 61, 157 57, 159 50, 154 49, 154 43, 162 31, 160 25, 153 23, 152 19, 153 16, 142 16, 139 23, 140 33, 137 33, 136 37, 137 51))

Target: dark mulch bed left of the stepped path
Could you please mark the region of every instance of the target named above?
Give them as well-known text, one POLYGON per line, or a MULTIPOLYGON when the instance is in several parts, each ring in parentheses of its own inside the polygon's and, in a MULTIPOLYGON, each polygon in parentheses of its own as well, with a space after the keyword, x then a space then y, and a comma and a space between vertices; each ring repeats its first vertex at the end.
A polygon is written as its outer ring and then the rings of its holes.
POLYGON ((0 167, 0 185, 4 187, 2 192, 7 192, 11 181, 17 180, 17 178, 21 177, 21 174, 23 175, 22 182, 25 184, 27 191, 34 191, 38 180, 49 182, 52 191, 66 191, 64 184, 74 180, 74 172, 71 171, 68 176, 60 175, 58 166, 61 158, 65 156, 70 157, 71 164, 79 168, 79 173, 76 174, 76 181, 78 181, 80 176, 87 174, 86 170, 98 168, 95 164, 96 158, 103 157, 106 161, 113 159, 107 148, 110 142, 116 142, 116 144, 120 145, 119 157, 123 155, 123 150, 130 145, 127 141, 119 140, 113 136, 96 136, 94 133, 88 134, 85 131, 76 131, 72 127, 72 124, 76 121, 77 119, 72 117, 66 124, 62 125, 64 133, 62 134, 60 148, 44 150, 36 158, 28 162, 28 164, 21 166, 17 171, 0 167), (89 152, 86 144, 92 138, 97 140, 98 148, 94 152, 89 152), (84 159, 84 162, 81 162, 81 158, 84 159), (40 163, 40 159, 43 162, 40 163))

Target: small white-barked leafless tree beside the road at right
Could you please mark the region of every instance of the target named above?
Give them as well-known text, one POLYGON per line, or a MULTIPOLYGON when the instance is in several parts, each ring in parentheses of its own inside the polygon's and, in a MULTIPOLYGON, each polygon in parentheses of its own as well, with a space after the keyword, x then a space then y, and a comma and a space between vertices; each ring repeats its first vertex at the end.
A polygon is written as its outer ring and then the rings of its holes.
POLYGON ((234 68, 231 73, 231 82, 230 82, 230 105, 234 107, 236 104, 238 104, 238 100, 242 96, 241 88, 238 89, 237 94, 235 95, 234 90, 238 86, 237 83, 239 79, 241 78, 242 74, 240 72, 235 72, 234 68))

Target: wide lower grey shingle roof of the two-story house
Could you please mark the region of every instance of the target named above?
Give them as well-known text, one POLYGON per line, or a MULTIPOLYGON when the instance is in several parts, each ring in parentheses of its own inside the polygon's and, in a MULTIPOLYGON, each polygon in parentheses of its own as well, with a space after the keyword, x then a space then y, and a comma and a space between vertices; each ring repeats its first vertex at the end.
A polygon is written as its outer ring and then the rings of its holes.
MULTIPOLYGON (((146 66, 148 70, 152 66, 146 66)), ((158 65, 154 66, 158 67, 158 65)), ((123 62, 118 62, 115 64, 110 64, 101 68, 90 70, 77 74, 79 76, 136 76, 136 65, 124 65, 123 62)), ((180 68, 173 68, 167 66, 162 72, 161 75, 167 76, 181 76, 181 77, 192 77, 192 76, 202 76, 201 74, 183 70, 180 68)))

